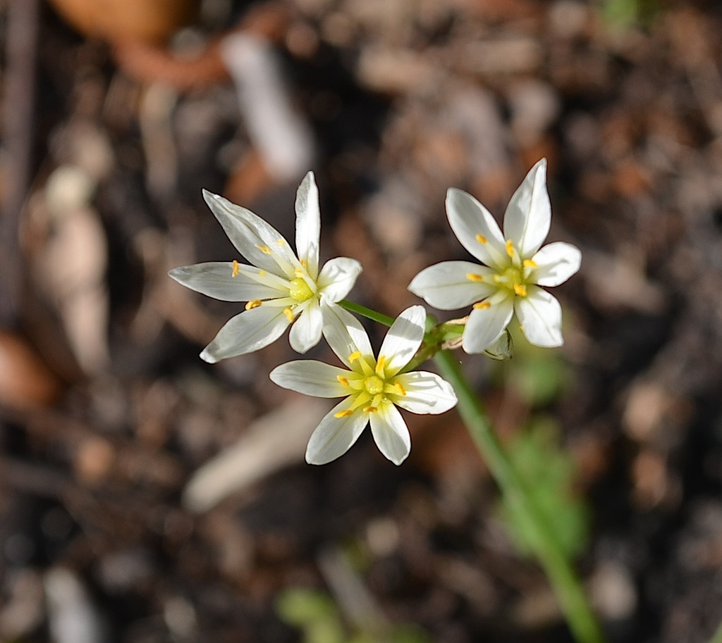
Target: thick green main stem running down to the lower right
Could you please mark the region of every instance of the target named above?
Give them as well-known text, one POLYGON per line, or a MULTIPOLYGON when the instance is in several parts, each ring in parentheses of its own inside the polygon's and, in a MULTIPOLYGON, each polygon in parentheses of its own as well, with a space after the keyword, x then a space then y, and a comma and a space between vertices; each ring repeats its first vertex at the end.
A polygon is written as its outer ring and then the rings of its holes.
POLYGON ((527 521, 529 533, 534 534, 534 553, 547 573, 573 636, 578 643, 604 643, 604 634, 580 580, 557 544, 557 538, 547 523, 547 516, 536 504, 526 481, 507 457, 477 395, 461 372, 458 361, 448 350, 438 352, 434 360, 441 374, 456 391, 461 419, 499 485, 504 501, 513 505, 516 513, 527 521))

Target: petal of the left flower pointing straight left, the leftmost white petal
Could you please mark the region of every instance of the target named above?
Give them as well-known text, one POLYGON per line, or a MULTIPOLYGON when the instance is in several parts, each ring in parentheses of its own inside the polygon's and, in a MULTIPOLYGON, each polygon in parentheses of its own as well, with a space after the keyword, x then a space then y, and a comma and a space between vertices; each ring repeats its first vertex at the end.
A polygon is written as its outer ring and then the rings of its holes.
POLYGON ((240 272, 233 277, 233 265, 230 262, 207 262, 181 266, 170 270, 168 275, 186 288, 190 288, 191 291, 221 301, 268 299, 279 296, 281 292, 278 288, 258 283, 240 272))

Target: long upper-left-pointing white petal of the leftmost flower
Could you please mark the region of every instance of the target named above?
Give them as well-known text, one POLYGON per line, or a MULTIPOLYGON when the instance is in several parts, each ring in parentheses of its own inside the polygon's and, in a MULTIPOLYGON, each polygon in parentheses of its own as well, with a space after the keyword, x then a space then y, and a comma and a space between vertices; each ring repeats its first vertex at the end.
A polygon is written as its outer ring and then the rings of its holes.
POLYGON ((223 226, 228 239, 253 265, 289 278, 299 262, 288 241, 270 223, 229 200, 203 190, 203 198, 223 226), (261 250, 266 249, 267 252, 261 250))

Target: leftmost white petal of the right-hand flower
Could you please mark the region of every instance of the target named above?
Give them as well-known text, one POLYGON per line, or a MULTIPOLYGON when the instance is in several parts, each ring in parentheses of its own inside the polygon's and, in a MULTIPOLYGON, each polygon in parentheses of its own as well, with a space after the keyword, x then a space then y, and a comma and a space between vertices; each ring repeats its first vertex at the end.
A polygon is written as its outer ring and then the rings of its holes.
POLYGON ((469 261, 445 261, 419 272, 409 284, 409 291, 439 310, 466 308, 496 290, 489 283, 472 281, 466 275, 491 280, 494 274, 491 268, 469 261))

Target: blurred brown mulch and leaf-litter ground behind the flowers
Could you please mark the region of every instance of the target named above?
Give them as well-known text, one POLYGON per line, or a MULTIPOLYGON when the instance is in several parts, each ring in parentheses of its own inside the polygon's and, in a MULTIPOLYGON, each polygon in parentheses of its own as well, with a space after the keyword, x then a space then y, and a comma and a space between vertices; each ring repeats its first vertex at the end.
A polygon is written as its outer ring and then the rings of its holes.
POLYGON ((397 314, 419 270, 465 258, 445 190, 500 219, 541 156, 550 239, 584 257, 555 291, 565 346, 464 367, 505 440, 546 419, 570 453, 610 638, 707 640, 721 30, 701 0, 1 1, 0 641, 300 641, 293 587, 349 631, 570 641, 456 414, 408 417, 401 468, 367 435, 305 465, 326 407, 268 380, 287 339, 206 365, 238 306, 166 276, 240 259, 202 188, 291 239, 313 169, 322 254, 360 260, 353 298, 397 314))

